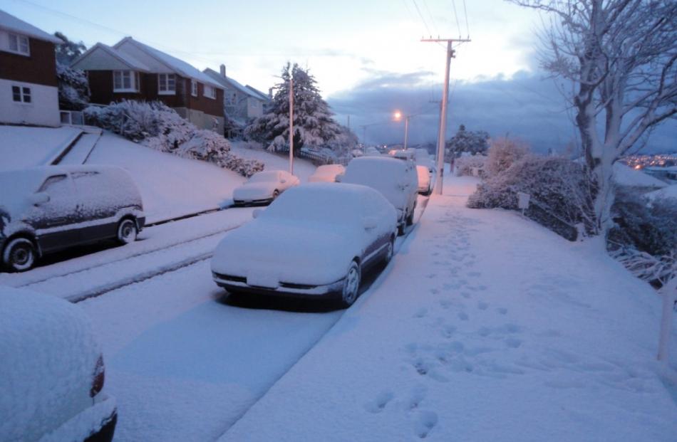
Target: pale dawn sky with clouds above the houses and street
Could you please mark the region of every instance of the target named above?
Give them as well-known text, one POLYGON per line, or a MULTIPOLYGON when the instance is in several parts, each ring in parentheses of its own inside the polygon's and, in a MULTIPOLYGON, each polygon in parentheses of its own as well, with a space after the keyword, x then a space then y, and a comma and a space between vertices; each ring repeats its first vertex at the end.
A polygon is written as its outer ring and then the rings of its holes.
MULTIPOLYGON (((124 36, 267 91, 290 60, 310 69, 336 120, 361 140, 434 142, 445 48, 422 37, 468 38, 451 63, 447 137, 460 124, 521 137, 534 150, 575 142, 558 85, 539 70, 534 11, 502 0, 0 0, 44 31, 92 46, 124 36), (467 21, 466 21, 467 17, 467 21), (366 126, 366 127, 364 127, 366 126)), ((561 88, 561 85, 560 85, 561 88)), ((677 151, 677 124, 654 132, 649 149, 677 151)))

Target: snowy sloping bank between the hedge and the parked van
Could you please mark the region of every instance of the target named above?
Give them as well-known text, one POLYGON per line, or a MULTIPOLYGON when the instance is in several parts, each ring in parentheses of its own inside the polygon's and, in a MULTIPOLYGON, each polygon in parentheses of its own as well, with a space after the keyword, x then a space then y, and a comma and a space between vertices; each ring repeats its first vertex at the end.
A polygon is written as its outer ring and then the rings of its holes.
POLYGON ((214 164, 158 152, 106 131, 87 164, 127 169, 141 191, 147 223, 228 206, 232 190, 244 182, 214 164))

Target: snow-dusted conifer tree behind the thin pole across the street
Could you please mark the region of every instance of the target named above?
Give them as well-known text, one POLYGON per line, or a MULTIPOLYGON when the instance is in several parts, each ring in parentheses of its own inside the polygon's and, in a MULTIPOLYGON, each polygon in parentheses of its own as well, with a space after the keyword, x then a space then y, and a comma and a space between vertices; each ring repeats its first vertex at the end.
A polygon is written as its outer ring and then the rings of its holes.
POLYGON ((320 95, 309 70, 296 63, 282 68, 282 81, 275 87, 267 113, 245 130, 247 137, 267 145, 271 151, 289 150, 289 80, 294 77, 294 151, 301 147, 330 147, 341 135, 329 105, 320 95))

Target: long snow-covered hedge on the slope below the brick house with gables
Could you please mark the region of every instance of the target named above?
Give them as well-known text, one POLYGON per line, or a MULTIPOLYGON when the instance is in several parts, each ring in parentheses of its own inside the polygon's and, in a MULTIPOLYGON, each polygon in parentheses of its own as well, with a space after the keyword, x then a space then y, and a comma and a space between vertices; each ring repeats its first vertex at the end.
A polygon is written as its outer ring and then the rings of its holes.
POLYGON ((264 168, 256 159, 230 152, 230 143, 211 130, 198 129, 162 102, 123 100, 106 107, 90 106, 85 115, 91 124, 128 140, 184 158, 201 159, 250 177, 264 168))

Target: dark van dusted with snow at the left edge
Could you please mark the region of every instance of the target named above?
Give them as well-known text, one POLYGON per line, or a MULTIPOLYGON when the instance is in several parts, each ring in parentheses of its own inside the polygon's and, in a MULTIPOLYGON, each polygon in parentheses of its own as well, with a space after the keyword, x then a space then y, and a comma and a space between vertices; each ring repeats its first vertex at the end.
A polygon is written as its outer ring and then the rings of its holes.
POLYGON ((0 172, 2 264, 29 270, 71 246, 136 240, 145 223, 130 174, 112 166, 46 166, 0 172))

